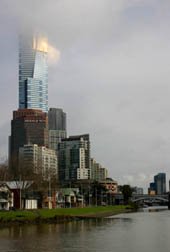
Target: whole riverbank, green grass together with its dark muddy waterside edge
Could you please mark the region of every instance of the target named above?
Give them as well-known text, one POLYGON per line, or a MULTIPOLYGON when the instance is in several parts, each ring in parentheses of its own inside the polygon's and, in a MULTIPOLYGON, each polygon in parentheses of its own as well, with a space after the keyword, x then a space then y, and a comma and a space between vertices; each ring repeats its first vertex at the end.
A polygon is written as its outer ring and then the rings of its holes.
POLYGON ((61 223, 79 219, 104 218, 128 211, 132 210, 124 205, 0 211, 0 227, 12 224, 61 223))

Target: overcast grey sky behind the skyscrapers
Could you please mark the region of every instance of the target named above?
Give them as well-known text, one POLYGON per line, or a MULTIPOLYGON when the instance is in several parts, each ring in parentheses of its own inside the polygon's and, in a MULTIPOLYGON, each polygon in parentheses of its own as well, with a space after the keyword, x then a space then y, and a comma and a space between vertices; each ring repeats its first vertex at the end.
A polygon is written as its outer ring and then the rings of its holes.
POLYGON ((119 183, 170 178, 170 1, 0 0, 0 157, 18 108, 22 28, 47 34, 49 106, 68 135, 90 133, 91 155, 119 183))

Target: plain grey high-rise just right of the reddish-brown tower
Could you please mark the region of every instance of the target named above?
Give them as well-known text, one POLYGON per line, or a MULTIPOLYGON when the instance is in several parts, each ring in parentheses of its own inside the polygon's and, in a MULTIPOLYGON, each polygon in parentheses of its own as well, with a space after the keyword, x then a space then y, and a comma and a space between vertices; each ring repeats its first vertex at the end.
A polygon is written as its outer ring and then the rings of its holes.
POLYGON ((58 144, 67 137, 66 113, 60 108, 48 111, 49 148, 58 152, 58 144))

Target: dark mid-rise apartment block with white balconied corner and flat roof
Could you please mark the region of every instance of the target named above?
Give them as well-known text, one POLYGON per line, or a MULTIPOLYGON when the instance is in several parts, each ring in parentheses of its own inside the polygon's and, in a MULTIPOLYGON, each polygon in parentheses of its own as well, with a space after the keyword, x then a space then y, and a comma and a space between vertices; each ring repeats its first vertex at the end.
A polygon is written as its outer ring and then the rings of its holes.
POLYGON ((60 181, 90 179, 89 135, 62 139, 59 143, 58 162, 60 181))

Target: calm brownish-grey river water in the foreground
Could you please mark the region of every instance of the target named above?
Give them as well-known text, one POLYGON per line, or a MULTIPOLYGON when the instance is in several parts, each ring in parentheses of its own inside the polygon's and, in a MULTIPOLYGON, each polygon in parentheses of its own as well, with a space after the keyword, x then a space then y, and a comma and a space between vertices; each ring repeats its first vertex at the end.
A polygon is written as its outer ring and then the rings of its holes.
POLYGON ((169 252, 170 211, 0 229, 0 252, 169 252))

